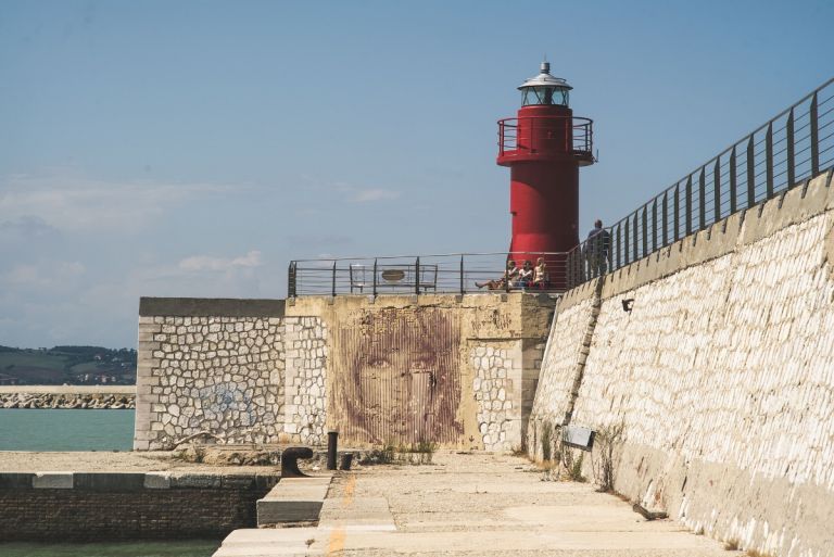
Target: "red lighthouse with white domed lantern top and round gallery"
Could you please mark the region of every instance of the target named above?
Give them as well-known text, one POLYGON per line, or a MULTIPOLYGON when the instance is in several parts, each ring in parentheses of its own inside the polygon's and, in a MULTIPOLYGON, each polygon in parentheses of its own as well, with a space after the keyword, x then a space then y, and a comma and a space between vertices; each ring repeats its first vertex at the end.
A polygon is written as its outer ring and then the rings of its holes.
MULTIPOLYGON (((551 64, 525 81, 515 118, 498 121, 497 163, 510 168, 513 257, 567 252, 579 243, 579 167, 594 163, 592 121, 573 116, 571 86, 551 75, 551 64)), ((563 257, 548 256, 551 282, 559 288, 563 257)))

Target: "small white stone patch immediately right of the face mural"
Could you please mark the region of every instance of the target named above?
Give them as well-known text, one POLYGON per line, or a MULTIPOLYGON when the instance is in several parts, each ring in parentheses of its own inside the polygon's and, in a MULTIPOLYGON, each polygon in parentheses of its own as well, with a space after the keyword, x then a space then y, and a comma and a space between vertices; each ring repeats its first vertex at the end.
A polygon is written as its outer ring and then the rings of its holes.
POLYGON ((485 342, 470 350, 476 420, 486 451, 511 451, 521 440, 521 341, 485 342))

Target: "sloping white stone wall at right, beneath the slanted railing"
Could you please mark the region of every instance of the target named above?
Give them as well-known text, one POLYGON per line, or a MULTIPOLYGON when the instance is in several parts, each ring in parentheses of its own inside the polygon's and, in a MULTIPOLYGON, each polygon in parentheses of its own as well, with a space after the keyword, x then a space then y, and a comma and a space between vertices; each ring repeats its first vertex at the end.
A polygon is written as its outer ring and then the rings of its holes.
MULTIPOLYGON (((614 434, 615 489, 767 555, 834 555, 831 174, 606 277, 557 308, 531 429, 614 434), (634 299, 631 312, 621 301, 634 299), (619 431, 619 434, 617 432, 619 431)), ((541 457, 541 447, 531 447, 541 457)))

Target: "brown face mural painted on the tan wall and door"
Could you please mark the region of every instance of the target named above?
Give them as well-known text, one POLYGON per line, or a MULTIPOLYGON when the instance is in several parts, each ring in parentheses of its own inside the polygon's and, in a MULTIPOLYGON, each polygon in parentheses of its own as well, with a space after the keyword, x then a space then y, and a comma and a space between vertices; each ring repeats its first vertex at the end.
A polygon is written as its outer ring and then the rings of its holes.
POLYGON ((364 309, 337 331, 330 425, 345 442, 455 443, 460 333, 450 312, 364 309))

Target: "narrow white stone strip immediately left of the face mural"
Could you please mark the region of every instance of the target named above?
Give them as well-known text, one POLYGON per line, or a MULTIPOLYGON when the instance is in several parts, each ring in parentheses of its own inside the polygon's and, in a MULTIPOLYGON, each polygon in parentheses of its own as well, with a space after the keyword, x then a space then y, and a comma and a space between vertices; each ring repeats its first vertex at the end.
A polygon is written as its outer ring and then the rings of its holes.
POLYGON ((283 432, 289 441, 327 442, 327 328, 316 317, 286 318, 283 432))

